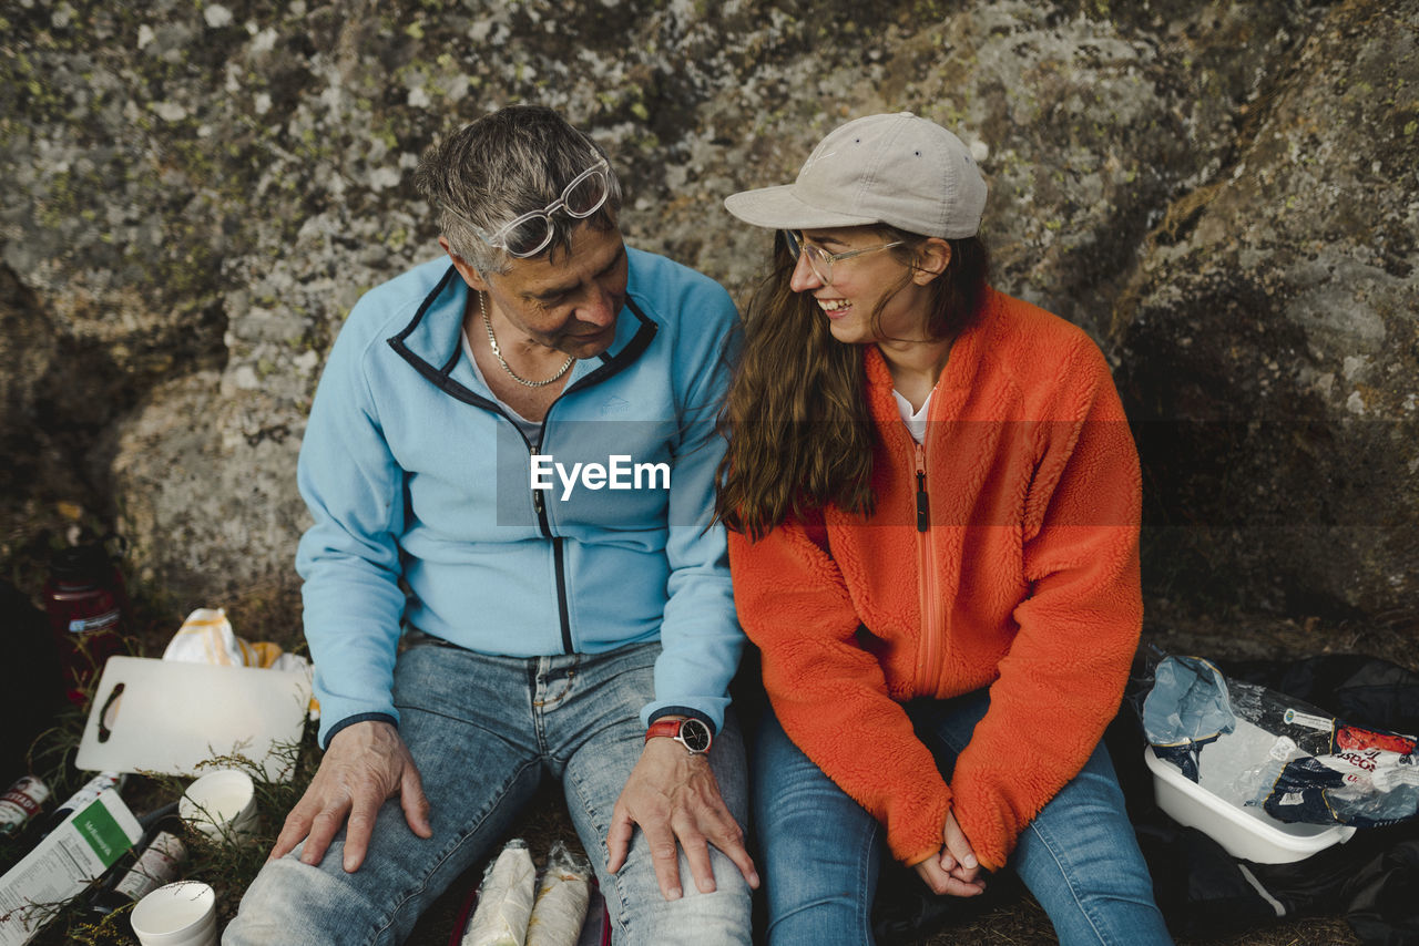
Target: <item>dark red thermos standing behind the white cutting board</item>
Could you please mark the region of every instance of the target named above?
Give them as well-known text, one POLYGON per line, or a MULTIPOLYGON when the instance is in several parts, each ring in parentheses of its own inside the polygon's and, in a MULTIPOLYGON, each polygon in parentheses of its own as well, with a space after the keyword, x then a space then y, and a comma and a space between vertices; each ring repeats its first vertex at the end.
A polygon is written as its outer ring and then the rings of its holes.
POLYGON ((85 688, 102 672, 104 661, 125 650, 128 594, 104 543, 54 553, 44 607, 60 648, 70 702, 82 703, 85 688))

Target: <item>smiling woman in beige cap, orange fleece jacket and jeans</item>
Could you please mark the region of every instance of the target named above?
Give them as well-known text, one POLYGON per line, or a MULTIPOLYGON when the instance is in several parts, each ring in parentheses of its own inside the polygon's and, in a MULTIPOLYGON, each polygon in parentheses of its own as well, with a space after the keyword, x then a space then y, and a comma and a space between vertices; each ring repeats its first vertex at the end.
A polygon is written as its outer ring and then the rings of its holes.
POLYGON ((1098 347, 986 285, 985 196, 901 113, 725 201, 779 231, 717 502, 772 708, 771 943, 871 942, 884 850, 938 895, 1012 868, 1070 946, 1169 942, 1100 743, 1142 618, 1138 458, 1098 347))

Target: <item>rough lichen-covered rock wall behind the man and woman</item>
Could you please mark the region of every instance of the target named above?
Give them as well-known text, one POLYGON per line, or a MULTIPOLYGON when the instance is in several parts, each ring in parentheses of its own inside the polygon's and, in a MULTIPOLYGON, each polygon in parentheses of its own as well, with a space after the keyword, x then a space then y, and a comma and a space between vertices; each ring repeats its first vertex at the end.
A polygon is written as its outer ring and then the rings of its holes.
POLYGON ((437 252, 441 130, 559 108, 746 301, 722 196, 910 109, 982 157, 996 284, 1115 365, 1154 594, 1419 617, 1416 0, 114 6, 0 7, 11 567, 87 515, 190 606, 294 580, 322 357, 437 252))

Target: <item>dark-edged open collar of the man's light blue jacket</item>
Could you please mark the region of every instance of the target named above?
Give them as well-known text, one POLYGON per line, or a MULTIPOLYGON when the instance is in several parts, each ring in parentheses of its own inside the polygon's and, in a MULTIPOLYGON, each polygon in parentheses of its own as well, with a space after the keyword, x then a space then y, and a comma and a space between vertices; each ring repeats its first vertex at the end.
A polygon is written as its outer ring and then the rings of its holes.
MULTIPOLYGON (((488 391, 468 387, 453 377, 463 357, 463 318, 468 305, 468 285, 450 264, 443 278, 430 289, 414 318, 389 346, 426 380, 453 397, 470 404, 492 406, 488 391)), ((568 394, 596 384, 634 362, 656 338, 656 323, 626 295, 626 306, 616 316, 616 340, 596 357, 579 363, 563 390, 568 394)))

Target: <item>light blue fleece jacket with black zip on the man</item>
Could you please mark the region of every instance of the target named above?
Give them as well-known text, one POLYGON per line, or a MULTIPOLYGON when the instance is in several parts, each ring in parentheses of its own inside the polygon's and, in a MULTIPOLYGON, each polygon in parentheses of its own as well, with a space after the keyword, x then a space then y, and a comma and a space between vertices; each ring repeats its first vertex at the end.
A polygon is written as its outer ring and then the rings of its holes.
POLYGON ((539 478, 551 489, 532 488, 531 445, 463 353, 468 288, 447 258, 350 312, 298 471, 315 518, 297 570, 322 746, 350 722, 397 723, 390 691, 406 625, 509 657, 658 638, 643 722, 683 711, 722 725, 744 634, 724 530, 708 523, 722 350, 738 313, 707 277, 627 255, 616 340, 576 363, 542 425, 539 478), (606 468, 603 485, 578 478, 568 489, 553 464, 578 462, 606 468))

